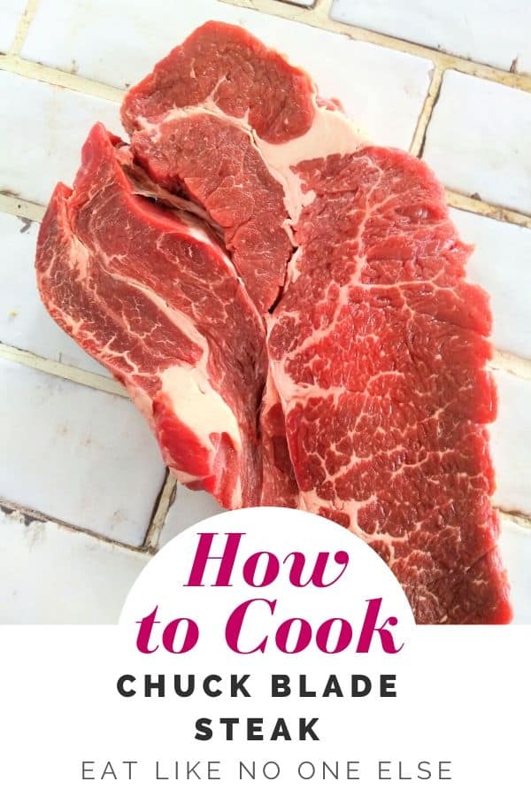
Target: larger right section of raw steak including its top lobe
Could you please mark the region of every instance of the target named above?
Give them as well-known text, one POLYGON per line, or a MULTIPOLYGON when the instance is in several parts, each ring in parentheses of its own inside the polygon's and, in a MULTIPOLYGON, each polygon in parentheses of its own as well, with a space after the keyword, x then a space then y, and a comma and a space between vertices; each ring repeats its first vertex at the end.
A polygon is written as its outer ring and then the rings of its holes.
POLYGON ((381 553, 419 622, 507 620, 484 427, 489 306, 464 280, 468 248, 427 166, 363 143, 304 74, 216 23, 128 94, 123 120, 150 176, 224 230, 262 311, 275 295, 249 264, 284 282, 282 234, 294 244, 265 400, 277 431, 285 415, 298 505, 381 553), (258 267, 242 228, 259 229, 258 267))

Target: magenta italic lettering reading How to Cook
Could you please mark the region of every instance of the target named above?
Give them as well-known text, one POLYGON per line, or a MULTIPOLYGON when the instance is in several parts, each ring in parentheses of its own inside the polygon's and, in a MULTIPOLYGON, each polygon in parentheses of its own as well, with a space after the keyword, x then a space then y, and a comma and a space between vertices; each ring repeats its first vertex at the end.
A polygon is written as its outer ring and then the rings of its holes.
MULTIPOLYGON (((361 610, 355 605, 345 606, 343 599, 342 611, 347 611, 348 616, 321 617, 319 622, 312 617, 292 616, 282 608, 279 594, 290 586, 327 589, 336 584, 349 566, 346 551, 319 551, 311 559, 301 551, 288 553, 283 559, 270 551, 254 551, 244 557, 243 537, 241 533, 198 534, 189 578, 183 584, 213 589, 235 584, 257 590, 273 585, 279 588, 276 595, 244 600, 227 612, 224 636, 230 650, 242 655, 265 654, 271 648, 288 655, 312 647, 327 655, 347 649, 356 654, 367 654, 374 649, 397 654, 402 650, 404 643, 396 638, 398 618, 387 614, 381 597, 367 598, 361 610)), ((190 607, 189 600, 186 605, 190 607)), ((137 621, 137 649, 143 654, 162 649, 175 655, 193 650, 201 637, 199 623, 188 616, 169 615, 161 620, 158 611, 156 606, 137 621)))

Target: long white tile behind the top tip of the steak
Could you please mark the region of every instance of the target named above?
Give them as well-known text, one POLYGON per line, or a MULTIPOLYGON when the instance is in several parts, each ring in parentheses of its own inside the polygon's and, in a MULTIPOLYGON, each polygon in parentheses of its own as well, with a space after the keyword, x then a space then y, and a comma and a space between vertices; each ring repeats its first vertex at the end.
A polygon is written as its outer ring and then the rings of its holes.
POLYGON ((207 19, 248 27, 308 69, 324 97, 339 97, 373 141, 409 147, 431 62, 217 0, 42 0, 23 55, 61 69, 75 60, 77 74, 125 88, 207 19))

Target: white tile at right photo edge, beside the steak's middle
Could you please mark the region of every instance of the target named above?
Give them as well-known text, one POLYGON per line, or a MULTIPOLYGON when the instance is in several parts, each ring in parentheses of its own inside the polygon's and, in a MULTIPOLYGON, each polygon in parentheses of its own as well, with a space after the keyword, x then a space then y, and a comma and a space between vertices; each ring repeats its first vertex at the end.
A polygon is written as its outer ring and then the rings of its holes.
POLYGON ((467 275, 490 294, 493 344, 531 359, 531 229, 458 210, 450 216, 475 246, 467 275))

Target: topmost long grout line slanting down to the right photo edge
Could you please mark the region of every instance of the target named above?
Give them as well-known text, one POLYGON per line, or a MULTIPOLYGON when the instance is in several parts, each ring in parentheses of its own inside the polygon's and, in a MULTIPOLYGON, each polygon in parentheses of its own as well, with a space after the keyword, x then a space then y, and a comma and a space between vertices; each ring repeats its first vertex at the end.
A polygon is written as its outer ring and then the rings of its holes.
POLYGON ((322 0, 321 3, 316 4, 313 8, 301 8, 297 11, 294 10, 294 6, 281 3, 279 0, 221 0, 221 3, 267 13, 273 17, 282 17, 284 19, 292 19, 296 22, 305 22, 307 25, 320 27, 331 33, 347 35, 350 39, 354 39, 358 42, 377 44, 381 47, 386 47, 388 50, 398 50, 407 55, 426 58, 427 60, 433 61, 435 65, 439 66, 443 71, 445 69, 455 69, 458 72, 471 74, 474 77, 481 77, 484 80, 503 83, 505 86, 509 86, 512 89, 531 91, 531 75, 513 73, 508 70, 499 69, 496 66, 488 66, 478 61, 462 58, 461 56, 450 55, 450 53, 432 49, 424 44, 408 42, 405 39, 381 34, 365 27, 347 25, 344 22, 337 22, 335 19, 330 19, 329 15, 325 14, 325 11, 331 11, 332 3, 330 0, 322 0))

